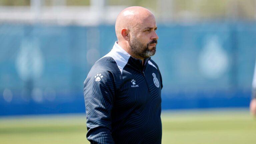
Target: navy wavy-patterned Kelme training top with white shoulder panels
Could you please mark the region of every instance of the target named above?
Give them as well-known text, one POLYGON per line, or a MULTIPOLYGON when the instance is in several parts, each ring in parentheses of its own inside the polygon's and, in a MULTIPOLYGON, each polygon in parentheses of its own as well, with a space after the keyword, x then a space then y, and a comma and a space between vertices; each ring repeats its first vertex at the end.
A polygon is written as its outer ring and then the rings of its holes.
POLYGON ((93 144, 160 144, 159 68, 150 58, 142 66, 120 47, 115 50, 94 64, 84 82, 87 139, 93 144))

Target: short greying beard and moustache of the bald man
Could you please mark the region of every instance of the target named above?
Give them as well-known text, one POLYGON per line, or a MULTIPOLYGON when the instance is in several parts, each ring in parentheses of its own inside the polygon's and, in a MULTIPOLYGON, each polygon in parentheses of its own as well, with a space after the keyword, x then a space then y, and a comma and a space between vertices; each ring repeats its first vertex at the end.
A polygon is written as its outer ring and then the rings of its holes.
POLYGON ((140 56, 144 59, 149 58, 156 53, 156 46, 154 46, 152 48, 152 50, 149 50, 149 48, 148 48, 149 45, 154 44, 154 43, 157 44, 157 40, 152 40, 145 46, 142 43, 140 43, 138 40, 136 40, 136 38, 132 37, 131 44, 130 44, 131 51, 133 54, 140 56))

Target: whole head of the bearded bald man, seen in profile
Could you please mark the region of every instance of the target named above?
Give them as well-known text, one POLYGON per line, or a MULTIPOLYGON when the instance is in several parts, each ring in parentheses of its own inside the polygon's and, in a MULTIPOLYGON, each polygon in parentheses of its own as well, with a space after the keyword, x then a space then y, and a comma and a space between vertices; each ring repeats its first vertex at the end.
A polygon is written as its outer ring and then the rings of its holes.
POLYGON ((142 61, 156 52, 156 29, 154 15, 143 7, 128 7, 121 11, 116 19, 118 45, 133 58, 142 61))

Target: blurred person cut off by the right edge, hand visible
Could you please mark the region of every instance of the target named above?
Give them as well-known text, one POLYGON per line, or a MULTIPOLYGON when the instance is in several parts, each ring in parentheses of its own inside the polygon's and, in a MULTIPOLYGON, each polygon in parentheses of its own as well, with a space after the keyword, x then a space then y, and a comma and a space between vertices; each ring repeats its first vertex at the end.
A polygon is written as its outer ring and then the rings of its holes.
POLYGON ((256 64, 255 64, 254 76, 252 81, 252 100, 250 103, 250 110, 252 115, 256 116, 256 64))

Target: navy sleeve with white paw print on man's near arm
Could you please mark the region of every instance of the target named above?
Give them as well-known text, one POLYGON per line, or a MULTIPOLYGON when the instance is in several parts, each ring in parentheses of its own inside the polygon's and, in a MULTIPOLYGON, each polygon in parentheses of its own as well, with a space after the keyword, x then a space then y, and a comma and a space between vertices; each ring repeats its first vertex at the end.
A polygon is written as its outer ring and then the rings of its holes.
POLYGON ((92 144, 114 144, 111 135, 111 110, 115 82, 110 71, 94 67, 84 81, 87 139, 92 144))

